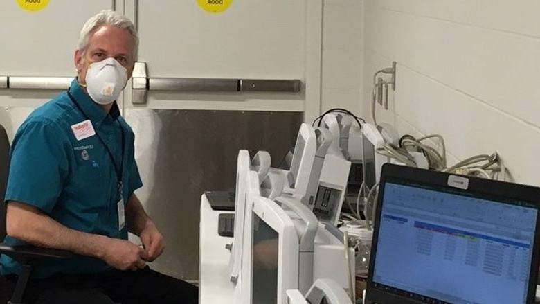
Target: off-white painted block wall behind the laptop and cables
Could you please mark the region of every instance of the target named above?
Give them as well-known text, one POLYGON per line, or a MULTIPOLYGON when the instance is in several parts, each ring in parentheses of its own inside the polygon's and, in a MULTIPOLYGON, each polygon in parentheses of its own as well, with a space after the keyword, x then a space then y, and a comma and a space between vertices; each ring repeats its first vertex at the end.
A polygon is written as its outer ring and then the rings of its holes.
MULTIPOLYGON (((397 61, 377 120, 442 134, 450 163, 497 151, 516 181, 540 185, 540 1, 365 0, 363 113, 372 75, 397 61)), ((369 93, 368 93, 369 92, 369 93)))

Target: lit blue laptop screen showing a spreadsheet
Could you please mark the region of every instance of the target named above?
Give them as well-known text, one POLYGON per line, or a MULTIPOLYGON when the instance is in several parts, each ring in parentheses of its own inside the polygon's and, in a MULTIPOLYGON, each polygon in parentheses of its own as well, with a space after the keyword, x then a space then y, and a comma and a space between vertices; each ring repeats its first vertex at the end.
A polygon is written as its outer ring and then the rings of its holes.
POLYGON ((525 303, 537 209, 387 179, 373 286, 426 303, 525 303))

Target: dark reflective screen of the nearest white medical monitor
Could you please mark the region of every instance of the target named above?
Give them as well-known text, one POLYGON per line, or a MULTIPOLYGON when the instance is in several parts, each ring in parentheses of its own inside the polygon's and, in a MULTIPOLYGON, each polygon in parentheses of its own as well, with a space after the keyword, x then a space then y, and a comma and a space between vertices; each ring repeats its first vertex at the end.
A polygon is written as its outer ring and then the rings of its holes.
POLYGON ((253 304, 278 302, 279 233, 253 213, 253 304))

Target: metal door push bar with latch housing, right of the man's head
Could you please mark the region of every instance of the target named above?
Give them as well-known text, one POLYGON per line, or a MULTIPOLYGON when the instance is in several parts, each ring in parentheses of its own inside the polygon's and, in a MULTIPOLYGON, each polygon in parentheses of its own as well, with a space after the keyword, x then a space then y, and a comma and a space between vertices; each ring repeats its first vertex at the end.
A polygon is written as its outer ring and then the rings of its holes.
POLYGON ((145 104, 147 91, 175 92, 282 92, 298 93, 300 80, 256 80, 224 78, 148 78, 146 62, 135 62, 132 102, 145 104))

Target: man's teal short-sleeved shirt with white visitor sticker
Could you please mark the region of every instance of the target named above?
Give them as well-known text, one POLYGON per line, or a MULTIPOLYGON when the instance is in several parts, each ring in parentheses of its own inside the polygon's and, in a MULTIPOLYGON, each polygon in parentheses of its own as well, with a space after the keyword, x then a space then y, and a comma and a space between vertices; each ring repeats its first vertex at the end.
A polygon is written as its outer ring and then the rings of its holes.
MULTIPOLYGON (((63 92, 35 109, 17 130, 11 148, 6 202, 17 201, 38 208, 71 229, 127 240, 127 224, 123 229, 118 224, 118 177, 105 145, 116 164, 123 163, 123 200, 127 203, 142 186, 134 159, 134 133, 120 116, 116 102, 107 114, 76 79, 69 91, 80 109, 68 92, 63 92), (103 142, 96 135, 80 140, 75 136, 72 126, 87 119, 103 142)), ((4 242, 22 243, 10 237, 4 242)), ((6 255, 1 256, 0 265, 1 274, 19 274, 21 270, 6 255)), ((102 260, 75 256, 69 260, 46 261, 35 267, 33 276, 46 278, 58 273, 84 274, 107 269, 109 266, 102 260)))

